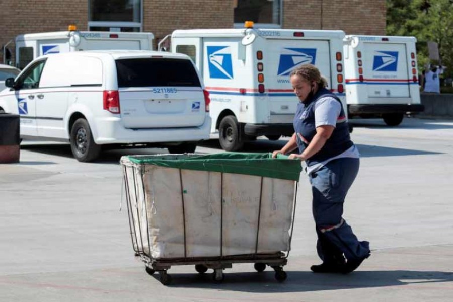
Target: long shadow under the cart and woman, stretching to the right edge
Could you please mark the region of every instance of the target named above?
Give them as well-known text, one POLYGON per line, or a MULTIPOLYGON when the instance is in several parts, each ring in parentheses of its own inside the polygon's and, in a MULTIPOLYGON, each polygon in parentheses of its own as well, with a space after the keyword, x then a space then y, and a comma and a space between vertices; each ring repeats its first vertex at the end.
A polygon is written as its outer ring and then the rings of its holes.
MULTIPOLYGON (((171 274, 171 273, 170 273, 171 274)), ((436 271, 357 271, 348 275, 315 274, 312 272, 287 271, 286 281, 279 283, 273 271, 262 273, 228 273, 221 284, 213 283, 212 274, 171 274, 175 288, 208 288, 243 292, 308 292, 385 286, 414 286, 441 282, 453 282, 453 272, 436 271)), ((159 274, 154 278, 159 280, 159 274)))

